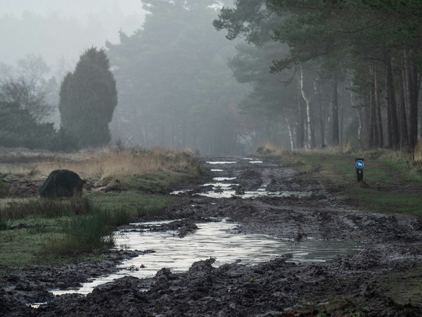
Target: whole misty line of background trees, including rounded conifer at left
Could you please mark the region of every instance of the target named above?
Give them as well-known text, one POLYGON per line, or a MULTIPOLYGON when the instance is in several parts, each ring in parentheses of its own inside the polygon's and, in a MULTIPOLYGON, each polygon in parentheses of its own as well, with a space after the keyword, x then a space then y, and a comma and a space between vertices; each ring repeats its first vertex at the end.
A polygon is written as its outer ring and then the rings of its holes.
MULTIPOLYGON (((120 139, 245 153, 266 142, 286 149, 352 142, 414 150, 422 3, 227 0, 231 7, 216 8, 218 2, 145 0, 142 28, 85 51, 53 101, 62 134, 76 139, 70 144, 120 139)), ((29 113, 43 125, 49 87, 59 89, 39 57, 20 61, 18 75, 0 77, 0 106, 15 109, 11 118, 29 113)))

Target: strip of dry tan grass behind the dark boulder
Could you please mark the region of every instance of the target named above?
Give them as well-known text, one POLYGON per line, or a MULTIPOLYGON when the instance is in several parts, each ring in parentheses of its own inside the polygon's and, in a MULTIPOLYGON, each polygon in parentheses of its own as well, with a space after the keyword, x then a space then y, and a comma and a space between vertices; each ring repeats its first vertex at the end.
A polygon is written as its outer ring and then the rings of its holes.
POLYGON ((82 178, 98 182, 127 178, 132 175, 146 175, 160 170, 188 171, 199 173, 189 154, 165 148, 153 149, 119 149, 98 151, 81 159, 60 159, 37 164, 42 175, 49 175, 51 170, 68 169, 78 173, 82 178))

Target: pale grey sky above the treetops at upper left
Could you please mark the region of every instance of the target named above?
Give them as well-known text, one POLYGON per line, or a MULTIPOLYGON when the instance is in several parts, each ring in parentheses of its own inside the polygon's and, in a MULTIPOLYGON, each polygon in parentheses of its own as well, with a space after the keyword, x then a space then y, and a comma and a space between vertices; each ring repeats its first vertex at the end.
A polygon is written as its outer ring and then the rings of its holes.
POLYGON ((117 43, 141 28, 141 0, 0 0, 0 63, 41 54, 75 62, 91 46, 117 43))

